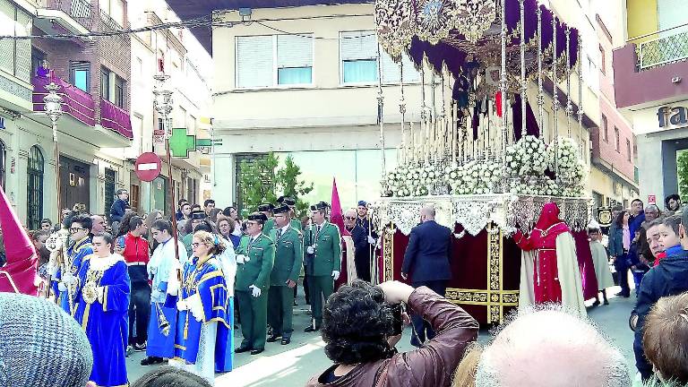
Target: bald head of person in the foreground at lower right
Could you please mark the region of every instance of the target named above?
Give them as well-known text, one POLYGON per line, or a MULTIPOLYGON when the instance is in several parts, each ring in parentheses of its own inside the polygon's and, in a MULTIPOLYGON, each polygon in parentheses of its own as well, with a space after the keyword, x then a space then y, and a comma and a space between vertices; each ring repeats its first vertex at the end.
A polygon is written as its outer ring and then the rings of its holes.
MULTIPOLYGON (((461 368, 463 365, 460 365, 461 368)), ((485 348, 476 387, 630 387, 622 353, 561 305, 524 308, 485 348)))

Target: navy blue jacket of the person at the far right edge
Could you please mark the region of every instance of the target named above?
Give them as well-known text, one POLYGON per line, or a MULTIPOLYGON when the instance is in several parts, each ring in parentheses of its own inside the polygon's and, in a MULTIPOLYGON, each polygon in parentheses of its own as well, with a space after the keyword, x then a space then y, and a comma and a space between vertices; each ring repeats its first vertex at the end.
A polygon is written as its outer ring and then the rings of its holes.
POLYGON ((633 309, 633 313, 638 314, 633 351, 635 365, 641 372, 643 380, 652 374, 652 366, 642 351, 642 328, 645 317, 659 298, 675 296, 686 290, 688 290, 688 251, 679 245, 667 249, 667 258, 659 261, 659 265, 648 271, 642 278, 638 301, 633 309))

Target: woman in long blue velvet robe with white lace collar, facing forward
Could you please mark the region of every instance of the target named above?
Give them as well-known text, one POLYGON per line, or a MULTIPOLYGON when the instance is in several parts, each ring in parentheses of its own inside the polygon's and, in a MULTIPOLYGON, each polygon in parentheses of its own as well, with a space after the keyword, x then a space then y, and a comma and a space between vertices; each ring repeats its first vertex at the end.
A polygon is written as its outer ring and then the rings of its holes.
POLYGON ((125 258, 112 254, 111 235, 93 236, 93 252, 84 259, 77 276, 75 318, 82 324, 93 351, 89 380, 99 387, 129 384, 125 342, 131 284, 125 258))

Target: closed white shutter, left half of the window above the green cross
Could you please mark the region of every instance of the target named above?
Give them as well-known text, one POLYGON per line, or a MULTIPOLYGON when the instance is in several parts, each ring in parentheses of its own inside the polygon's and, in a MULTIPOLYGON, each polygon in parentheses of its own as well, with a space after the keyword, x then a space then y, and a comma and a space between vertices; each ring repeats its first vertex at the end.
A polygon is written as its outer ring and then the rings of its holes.
POLYGON ((236 86, 269 87, 273 84, 272 36, 236 38, 236 86))

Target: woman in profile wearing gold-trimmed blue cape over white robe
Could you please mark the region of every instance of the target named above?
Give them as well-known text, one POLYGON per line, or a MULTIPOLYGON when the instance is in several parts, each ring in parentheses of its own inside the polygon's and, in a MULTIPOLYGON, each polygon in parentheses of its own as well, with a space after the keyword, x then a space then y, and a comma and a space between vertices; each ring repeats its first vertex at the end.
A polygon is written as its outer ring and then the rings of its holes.
POLYGON ((169 363, 212 383, 215 371, 232 369, 233 308, 219 262, 226 247, 219 236, 197 231, 192 248, 193 257, 184 265, 184 286, 173 282, 168 288, 170 295, 178 295, 175 357, 169 363))

